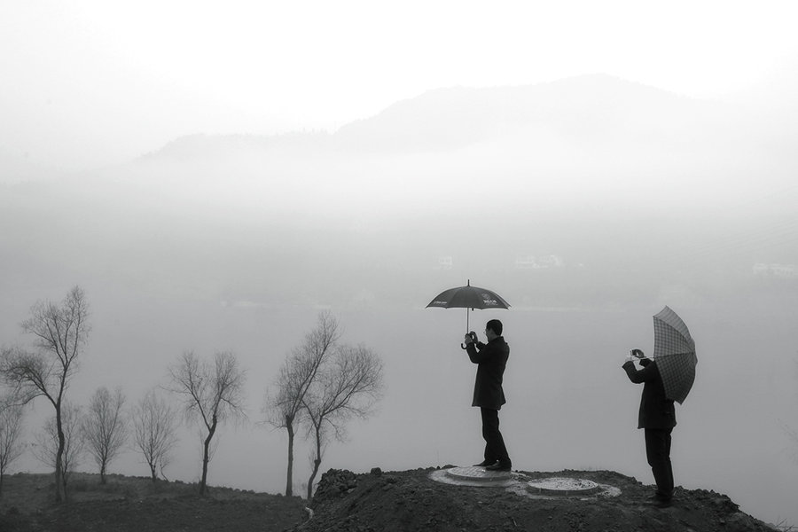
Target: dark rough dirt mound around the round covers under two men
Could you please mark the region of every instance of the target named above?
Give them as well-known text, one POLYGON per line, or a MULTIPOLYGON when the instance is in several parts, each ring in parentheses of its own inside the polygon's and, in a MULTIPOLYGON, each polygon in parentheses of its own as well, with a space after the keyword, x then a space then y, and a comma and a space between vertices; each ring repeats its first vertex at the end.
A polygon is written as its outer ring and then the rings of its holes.
POLYGON ((310 506, 313 516, 293 528, 314 531, 529 530, 767 531, 774 528, 740 512, 729 497, 703 489, 677 489, 674 505, 660 508, 653 487, 610 471, 519 472, 523 481, 570 477, 612 486, 612 497, 538 497, 505 486, 458 486, 430 478, 435 469, 355 474, 330 470, 310 506), (620 494, 618 494, 620 490, 620 494))

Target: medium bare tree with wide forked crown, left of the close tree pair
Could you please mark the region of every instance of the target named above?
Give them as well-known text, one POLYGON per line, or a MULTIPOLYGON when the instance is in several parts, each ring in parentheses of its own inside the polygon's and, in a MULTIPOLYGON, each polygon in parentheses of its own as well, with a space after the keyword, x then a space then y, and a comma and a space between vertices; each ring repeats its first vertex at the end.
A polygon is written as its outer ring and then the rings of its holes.
POLYGON ((214 364, 200 361, 192 352, 184 353, 169 368, 174 387, 183 397, 186 419, 195 419, 202 437, 202 478, 200 494, 207 489, 207 464, 216 428, 230 418, 244 416, 245 372, 230 352, 216 353, 214 364))

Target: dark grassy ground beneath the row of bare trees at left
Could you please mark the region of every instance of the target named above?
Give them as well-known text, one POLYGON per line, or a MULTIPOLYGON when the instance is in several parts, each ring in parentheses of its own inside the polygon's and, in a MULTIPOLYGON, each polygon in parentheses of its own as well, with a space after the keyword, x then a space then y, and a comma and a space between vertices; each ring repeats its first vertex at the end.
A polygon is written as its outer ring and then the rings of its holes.
POLYGON ((74 473, 65 504, 54 502, 53 475, 21 473, 6 477, 0 496, 0 531, 55 532, 105 530, 283 531, 305 520, 299 497, 249 490, 211 488, 200 496, 196 483, 149 477, 74 473))

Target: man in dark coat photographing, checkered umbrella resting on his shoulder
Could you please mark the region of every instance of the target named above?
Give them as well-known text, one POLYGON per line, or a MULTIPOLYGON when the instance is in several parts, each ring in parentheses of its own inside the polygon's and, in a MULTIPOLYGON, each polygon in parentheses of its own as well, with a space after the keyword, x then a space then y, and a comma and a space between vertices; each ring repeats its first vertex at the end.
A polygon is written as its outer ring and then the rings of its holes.
POLYGON ((655 360, 645 358, 643 351, 632 349, 622 368, 635 384, 643 384, 640 398, 638 428, 644 429, 645 458, 651 465, 654 481, 657 483, 653 502, 659 506, 669 506, 673 498, 673 469, 670 465, 670 434, 676 426, 676 409, 673 400, 665 395, 660 370, 655 360), (635 367, 638 359, 642 368, 635 367))

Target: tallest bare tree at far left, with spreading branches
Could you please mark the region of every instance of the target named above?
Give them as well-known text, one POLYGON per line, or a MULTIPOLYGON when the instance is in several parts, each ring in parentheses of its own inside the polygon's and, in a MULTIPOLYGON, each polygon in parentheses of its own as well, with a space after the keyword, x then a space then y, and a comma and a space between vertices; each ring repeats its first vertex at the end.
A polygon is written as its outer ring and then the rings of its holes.
POLYGON ((69 380, 77 370, 77 359, 88 339, 90 325, 89 307, 82 289, 74 286, 60 305, 40 301, 31 309, 30 317, 22 323, 23 331, 35 337, 34 353, 21 348, 7 348, 0 353, 0 372, 13 387, 21 403, 27 404, 35 397, 44 396, 55 410, 56 501, 65 500, 66 471, 63 463, 66 435, 62 409, 69 380))

